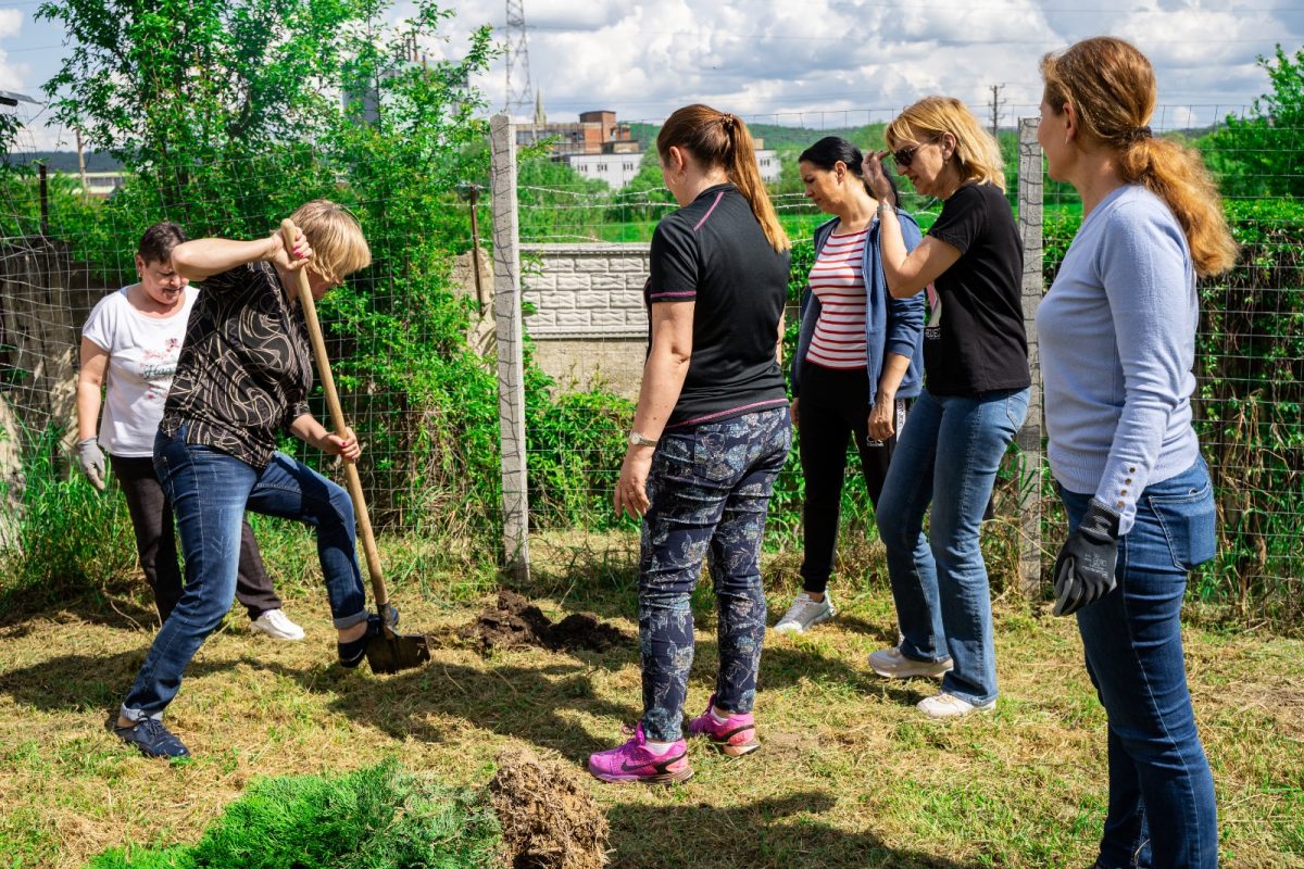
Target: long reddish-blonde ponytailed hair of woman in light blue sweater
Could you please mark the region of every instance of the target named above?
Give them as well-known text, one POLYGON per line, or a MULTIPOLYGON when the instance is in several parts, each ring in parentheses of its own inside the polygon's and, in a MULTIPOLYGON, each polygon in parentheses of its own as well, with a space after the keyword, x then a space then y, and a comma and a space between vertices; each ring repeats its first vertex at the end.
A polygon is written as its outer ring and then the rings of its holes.
POLYGON ((1042 57, 1046 103, 1056 115, 1072 103, 1086 143, 1118 155, 1119 173, 1163 199, 1181 224, 1201 278, 1236 263, 1236 242, 1227 229, 1218 185, 1200 154, 1155 138, 1148 124, 1154 113, 1154 69, 1132 44, 1095 36, 1042 57))

